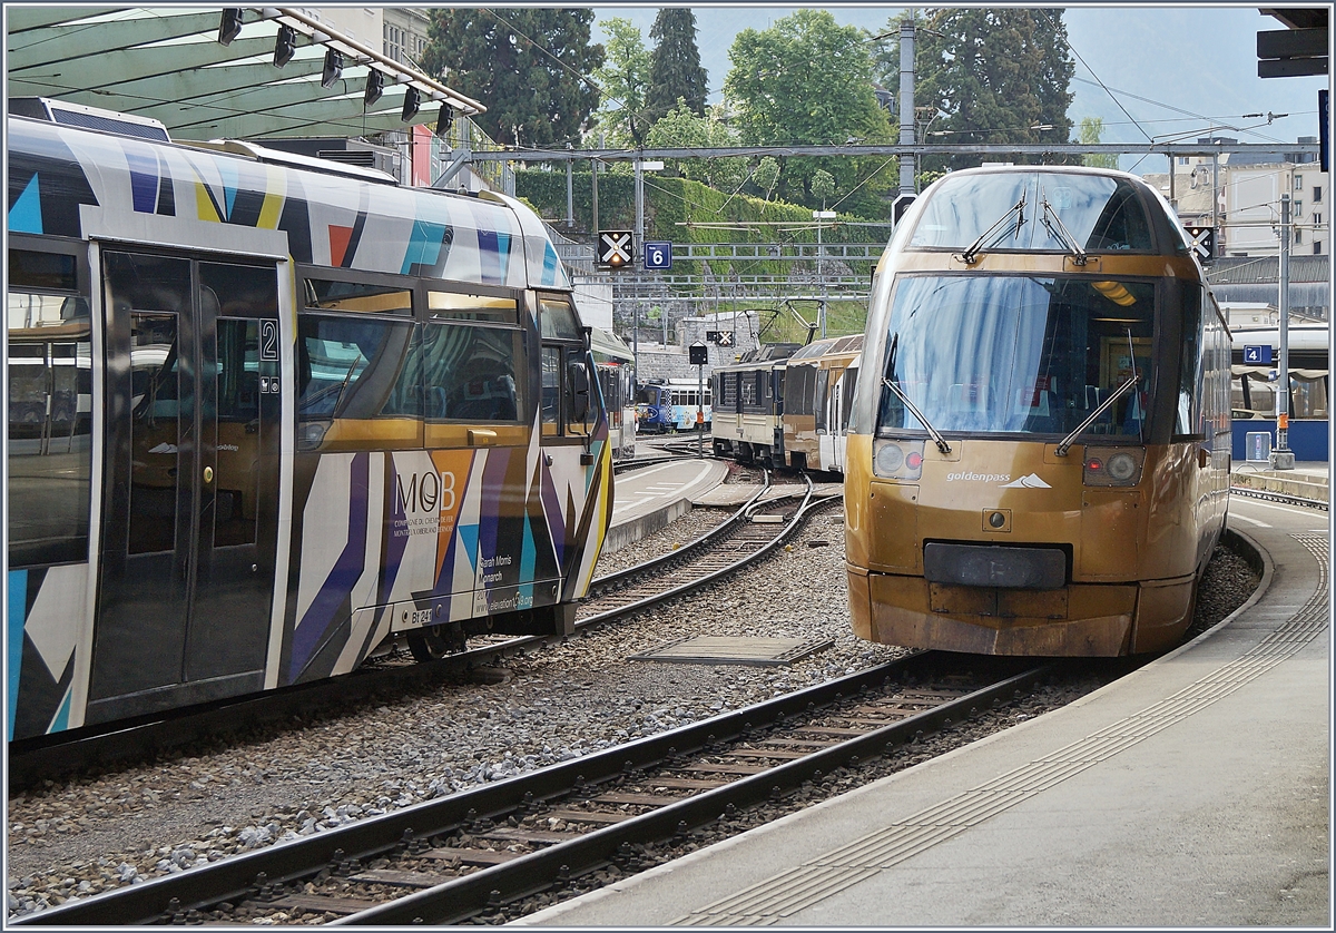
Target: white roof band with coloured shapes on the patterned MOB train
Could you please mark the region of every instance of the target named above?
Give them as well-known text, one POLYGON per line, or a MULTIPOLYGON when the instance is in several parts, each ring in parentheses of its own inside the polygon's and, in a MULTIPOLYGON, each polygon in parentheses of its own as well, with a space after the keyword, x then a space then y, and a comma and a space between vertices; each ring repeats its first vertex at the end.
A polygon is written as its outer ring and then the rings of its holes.
POLYGON ((8 131, 11 234, 218 243, 314 266, 570 289, 542 221, 501 194, 317 174, 289 154, 261 162, 248 144, 218 151, 24 116, 8 131))

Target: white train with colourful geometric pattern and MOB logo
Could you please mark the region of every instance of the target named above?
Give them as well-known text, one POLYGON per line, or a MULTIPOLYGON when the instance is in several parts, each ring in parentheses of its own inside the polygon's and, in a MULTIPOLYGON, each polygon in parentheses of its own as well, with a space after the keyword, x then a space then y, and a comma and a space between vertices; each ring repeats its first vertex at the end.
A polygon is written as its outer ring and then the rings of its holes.
POLYGON ((8 119, 8 738, 570 631, 612 464, 537 215, 98 116, 8 119))

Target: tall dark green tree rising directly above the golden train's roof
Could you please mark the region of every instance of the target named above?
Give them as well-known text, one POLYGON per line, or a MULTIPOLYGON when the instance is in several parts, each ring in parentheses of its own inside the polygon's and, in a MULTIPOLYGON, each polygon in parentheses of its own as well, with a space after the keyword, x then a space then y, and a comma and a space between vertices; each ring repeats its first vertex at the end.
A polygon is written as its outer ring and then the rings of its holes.
MULTIPOLYGON (((899 23, 876 55, 878 74, 899 80, 899 23)), ((1061 9, 931 9, 916 32, 914 103, 941 111, 935 130, 953 143, 1066 142, 1074 64, 1061 9)), ((933 168, 978 164, 977 155, 925 159, 933 168)))

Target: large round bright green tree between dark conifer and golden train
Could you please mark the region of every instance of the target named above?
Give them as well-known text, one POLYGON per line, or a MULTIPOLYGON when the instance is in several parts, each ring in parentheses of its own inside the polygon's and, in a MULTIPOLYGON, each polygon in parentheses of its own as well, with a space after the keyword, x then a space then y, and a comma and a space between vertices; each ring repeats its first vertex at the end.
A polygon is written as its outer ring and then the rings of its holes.
MULTIPOLYGON (((768 29, 743 29, 728 51, 732 70, 724 94, 735 126, 749 144, 843 144, 888 142, 891 126, 876 103, 866 33, 840 27, 826 11, 799 9, 768 29)), ((779 191, 788 201, 814 203, 811 179, 828 171, 844 191, 859 191, 862 209, 882 213, 880 194, 891 183, 882 159, 790 158, 782 163, 779 191)), ((846 210, 855 205, 847 205, 846 210)))

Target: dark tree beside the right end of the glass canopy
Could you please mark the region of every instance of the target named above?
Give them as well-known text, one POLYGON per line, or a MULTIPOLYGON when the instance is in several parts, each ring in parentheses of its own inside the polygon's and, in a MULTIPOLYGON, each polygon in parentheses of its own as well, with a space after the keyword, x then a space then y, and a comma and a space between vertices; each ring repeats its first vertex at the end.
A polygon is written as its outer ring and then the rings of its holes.
POLYGON ((592 9, 433 9, 422 68, 488 111, 474 118, 501 143, 574 143, 599 106, 584 75, 604 61, 589 43, 592 9))

